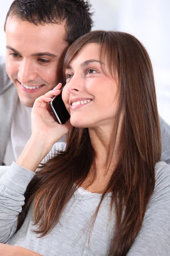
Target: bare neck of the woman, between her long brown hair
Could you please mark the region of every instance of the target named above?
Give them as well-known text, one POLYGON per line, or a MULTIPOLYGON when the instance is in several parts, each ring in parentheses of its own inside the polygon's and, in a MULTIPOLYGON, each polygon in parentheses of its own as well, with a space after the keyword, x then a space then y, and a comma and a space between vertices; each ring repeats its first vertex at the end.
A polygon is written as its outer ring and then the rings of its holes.
POLYGON ((116 152, 118 151, 119 145, 119 136, 117 136, 113 151, 115 134, 116 131, 113 130, 113 127, 89 128, 91 144, 93 145, 96 153, 96 178, 94 182, 91 183, 94 177, 94 170, 91 169, 87 179, 81 186, 92 193, 102 194, 108 185, 111 175, 113 174, 116 166, 116 158, 118 157, 116 152))

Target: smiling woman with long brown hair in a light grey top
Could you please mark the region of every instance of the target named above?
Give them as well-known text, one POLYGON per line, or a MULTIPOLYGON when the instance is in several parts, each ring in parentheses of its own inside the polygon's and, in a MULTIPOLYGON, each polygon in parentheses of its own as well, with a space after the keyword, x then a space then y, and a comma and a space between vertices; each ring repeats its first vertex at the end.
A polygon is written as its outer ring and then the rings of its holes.
POLYGON ((146 50, 127 33, 90 32, 64 72, 70 122, 48 111, 61 84, 35 101, 31 138, 1 179, 0 242, 44 256, 169 255, 170 166, 146 50))

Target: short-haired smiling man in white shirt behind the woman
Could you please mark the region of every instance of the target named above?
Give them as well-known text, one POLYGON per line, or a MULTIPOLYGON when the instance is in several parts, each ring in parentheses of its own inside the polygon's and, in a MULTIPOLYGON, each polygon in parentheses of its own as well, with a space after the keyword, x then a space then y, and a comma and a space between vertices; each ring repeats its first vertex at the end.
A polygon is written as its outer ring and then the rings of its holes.
POLYGON ((0 65, 0 165, 11 165, 26 145, 35 99, 64 82, 62 60, 69 45, 91 30, 90 7, 86 0, 11 4, 6 67, 0 65))

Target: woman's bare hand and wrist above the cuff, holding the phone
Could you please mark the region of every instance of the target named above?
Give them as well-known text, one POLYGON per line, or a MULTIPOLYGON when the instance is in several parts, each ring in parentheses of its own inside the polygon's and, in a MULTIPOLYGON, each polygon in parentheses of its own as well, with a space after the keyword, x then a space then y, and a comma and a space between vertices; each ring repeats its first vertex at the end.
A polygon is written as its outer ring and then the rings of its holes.
POLYGON ((40 96, 34 102, 31 112, 32 134, 16 161, 25 169, 34 172, 54 143, 72 128, 69 120, 64 125, 58 124, 50 111, 49 102, 54 96, 59 95, 61 87, 62 84, 58 84, 53 90, 40 96))

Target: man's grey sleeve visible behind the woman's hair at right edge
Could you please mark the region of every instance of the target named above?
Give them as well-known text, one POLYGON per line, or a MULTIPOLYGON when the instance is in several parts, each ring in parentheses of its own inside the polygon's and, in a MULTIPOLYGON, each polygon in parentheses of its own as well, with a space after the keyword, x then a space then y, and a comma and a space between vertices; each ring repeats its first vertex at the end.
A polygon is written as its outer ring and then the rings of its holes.
POLYGON ((161 125, 162 154, 161 160, 170 164, 170 126, 159 116, 161 125))

